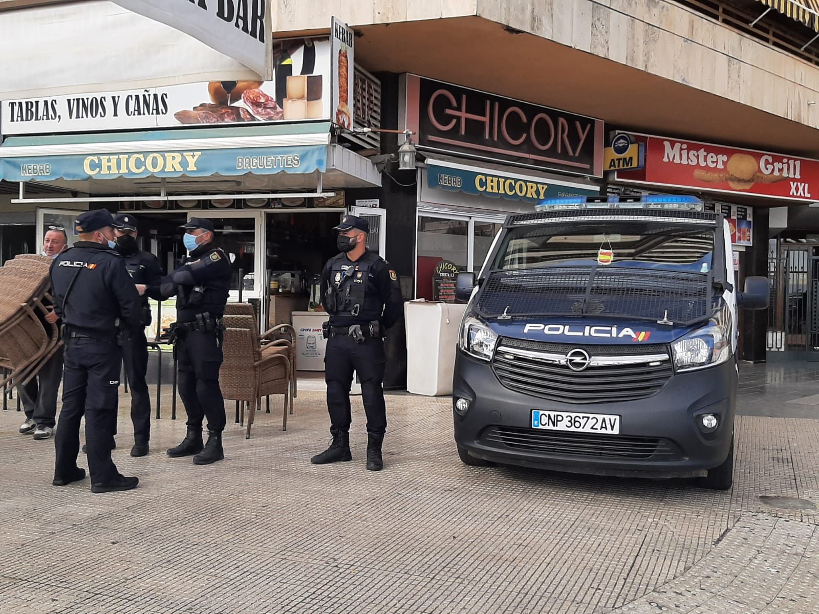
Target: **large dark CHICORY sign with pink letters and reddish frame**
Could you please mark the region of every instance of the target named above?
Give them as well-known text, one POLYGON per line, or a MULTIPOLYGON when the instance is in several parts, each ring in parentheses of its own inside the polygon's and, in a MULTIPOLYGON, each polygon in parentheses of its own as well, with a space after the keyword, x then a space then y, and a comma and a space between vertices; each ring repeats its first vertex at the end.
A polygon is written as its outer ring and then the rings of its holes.
POLYGON ((407 128, 419 147, 600 177, 603 122, 409 74, 407 128))

